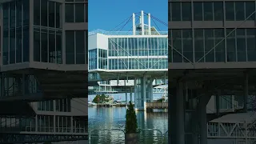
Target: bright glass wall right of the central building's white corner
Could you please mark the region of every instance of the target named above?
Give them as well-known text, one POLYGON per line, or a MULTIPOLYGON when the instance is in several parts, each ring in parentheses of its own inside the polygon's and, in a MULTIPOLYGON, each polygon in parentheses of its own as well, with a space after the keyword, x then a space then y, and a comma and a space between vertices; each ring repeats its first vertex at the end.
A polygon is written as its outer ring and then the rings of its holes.
POLYGON ((167 38, 109 38, 109 69, 167 69, 167 38))

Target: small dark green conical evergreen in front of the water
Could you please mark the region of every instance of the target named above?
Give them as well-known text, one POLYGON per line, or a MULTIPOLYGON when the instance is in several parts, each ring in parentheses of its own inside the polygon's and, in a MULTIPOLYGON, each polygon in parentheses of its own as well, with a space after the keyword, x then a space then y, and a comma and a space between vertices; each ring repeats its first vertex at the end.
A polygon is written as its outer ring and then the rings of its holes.
POLYGON ((133 104, 130 102, 126 110, 126 134, 138 132, 138 123, 133 104))

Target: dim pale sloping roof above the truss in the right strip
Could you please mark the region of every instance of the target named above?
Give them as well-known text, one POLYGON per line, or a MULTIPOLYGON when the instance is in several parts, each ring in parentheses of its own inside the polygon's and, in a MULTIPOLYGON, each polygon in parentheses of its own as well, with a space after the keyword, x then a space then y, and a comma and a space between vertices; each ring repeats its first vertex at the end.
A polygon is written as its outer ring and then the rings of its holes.
POLYGON ((234 122, 247 122, 251 123, 256 120, 256 112, 248 111, 247 113, 238 113, 238 114, 226 114, 220 118, 216 118, 210 122, 225 122, 225 123, 234 123, 234 122))

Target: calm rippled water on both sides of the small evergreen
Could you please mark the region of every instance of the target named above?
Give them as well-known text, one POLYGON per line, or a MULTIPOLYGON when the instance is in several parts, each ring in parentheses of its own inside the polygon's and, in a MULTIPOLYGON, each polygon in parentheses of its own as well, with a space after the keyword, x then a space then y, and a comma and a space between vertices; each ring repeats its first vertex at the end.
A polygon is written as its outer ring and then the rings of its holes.
MULTIPOLYGON (((89 107, 89 130, 100 130, 91 132, 91 144, 118 144, 124 143, 124 134, 126 124, 126 108, 110 107, 97 108, 89 107), (111 131, 109 131, 111 129, 111 131), (117 129, 114 131, 113 129, 117 129), (106 131, 103 131, 106 130, 106 131)), ((137 112, 138 128, 157 129, 165 134, 168 129, 168 114, 163 111, 153 113, 137 112)), ((142 130, 140 134, 141 144, 161 143, 160 132, 154 130, 142 130)))

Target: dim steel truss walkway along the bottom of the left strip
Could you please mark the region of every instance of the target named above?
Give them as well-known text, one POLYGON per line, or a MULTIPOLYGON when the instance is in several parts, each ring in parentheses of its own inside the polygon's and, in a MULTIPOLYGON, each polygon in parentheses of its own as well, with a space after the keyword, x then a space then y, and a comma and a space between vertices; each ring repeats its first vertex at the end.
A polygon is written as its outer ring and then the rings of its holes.
POLYGON ((0 134, 0 143, 34 143, 88 140, 88 134, 0 134))

